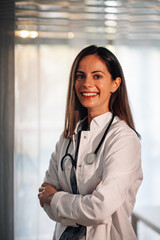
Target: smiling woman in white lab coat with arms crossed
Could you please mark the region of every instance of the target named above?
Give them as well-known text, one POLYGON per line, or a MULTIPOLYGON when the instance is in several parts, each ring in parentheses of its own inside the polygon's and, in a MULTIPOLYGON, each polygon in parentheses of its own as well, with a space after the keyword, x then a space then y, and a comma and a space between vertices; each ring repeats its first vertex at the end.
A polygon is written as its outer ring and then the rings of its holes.
POLYGON ((73 62, 65 128, 39 200, 54 240, 135 240, 130 223, 142 182, 140 141, 117 58, 103 47, 73 62))

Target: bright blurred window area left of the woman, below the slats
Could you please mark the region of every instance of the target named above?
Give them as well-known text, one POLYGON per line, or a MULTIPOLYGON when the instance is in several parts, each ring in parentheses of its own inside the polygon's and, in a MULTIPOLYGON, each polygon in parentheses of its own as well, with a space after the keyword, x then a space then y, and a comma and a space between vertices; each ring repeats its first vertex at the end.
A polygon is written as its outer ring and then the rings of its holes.
POLYGON ((64 126, 72 51, 66 45, 15 47, 15 239, 51 239, 54 222, 38 187, 64 126))

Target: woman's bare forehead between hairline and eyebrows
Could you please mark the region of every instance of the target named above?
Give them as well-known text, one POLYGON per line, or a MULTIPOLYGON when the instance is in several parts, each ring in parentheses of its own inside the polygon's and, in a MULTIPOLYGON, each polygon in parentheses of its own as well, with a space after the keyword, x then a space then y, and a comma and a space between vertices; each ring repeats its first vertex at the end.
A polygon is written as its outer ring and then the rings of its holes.
POLYGON ((78 71, 82 70, 105 70, 108 71, 105 62, 97 55, 88 55, 79 62, 78 71))

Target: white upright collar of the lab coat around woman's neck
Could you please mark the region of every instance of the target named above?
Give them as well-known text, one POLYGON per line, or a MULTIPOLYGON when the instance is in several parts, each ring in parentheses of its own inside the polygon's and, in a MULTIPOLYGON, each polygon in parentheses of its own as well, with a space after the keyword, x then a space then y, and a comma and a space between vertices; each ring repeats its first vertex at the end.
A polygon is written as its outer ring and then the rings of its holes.
MULTIPOLYGON (((93 118, 90 123, 90 128, 88 130, 92 131, 92 130, 96 130, 97 128, 104 128, 111 120, 111 117, 112 117, 112 113, 107 112, 107 113, 104 113, 102 115, 99 115, 99 116, 93 118)), ((74 131, 75 134, 77 134, 79 131, 82 130, 82 125, 83 125, 84 121, 86 120, 86 118, 87 117, 85 117, 83 120, 81 120, 77 123, 77 126, 74 131)))

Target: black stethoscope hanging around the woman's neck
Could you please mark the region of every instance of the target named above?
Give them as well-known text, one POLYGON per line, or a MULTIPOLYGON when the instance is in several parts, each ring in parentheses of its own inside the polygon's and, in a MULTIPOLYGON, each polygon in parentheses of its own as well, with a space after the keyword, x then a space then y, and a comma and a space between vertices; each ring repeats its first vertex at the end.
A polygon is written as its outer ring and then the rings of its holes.
MULTIPOLYGON (((105 139, 105 137, 106 137, 106 135, 107 135, 111 125, 112 125, 113 120, 114 120, 114 114, 112 114, 112 118, 111 118, 111 120, 110 120, 110 122, 109 122, 109 124, 108 124, 108 126, 107 126, 107 128, 106 128, 106 130, 105 130, 105 132, 104 132, 104 134, 103 134, 103 136, 102 136, 102 138, 101 138, 97 148, 96 148, 96 150, 93 153, 89 153, 87 155, 87 158, 86 158, 86 164, 87 165, 91 165, 95 161, 96 155, 97 155, 100 147, 102 146, 102 143, 103 143, 103 141, 104 141, 104 139, 105 139)), ((67 145, 67 148, 66 148, 66 152, 65 152, 64 156, 61 159, 61 170, 62 171, 64 171, 64 162, 66 160, 70 160, 71 164, 72 164, 72 167, 74 167, 76 169, 78 150, 79 150, 79 144, 80 144, 80 138, 81 138, 81 131, 78 132, 78 142, 77 142, 77 147, 76 147, 76 152, 75 152, 75 157, 74 158, 73 158, 73 156, 70 153, 68 153, 69 146, 71 144, 71 139, 70 139, 70 141, 69 141, 69 143, 67 145)))

